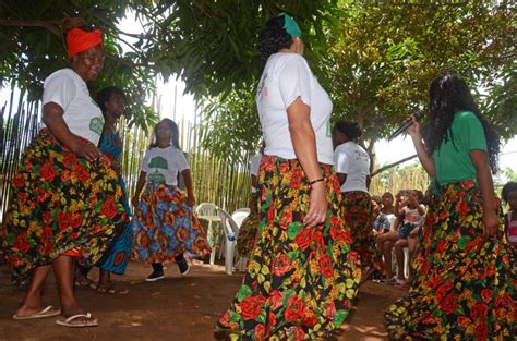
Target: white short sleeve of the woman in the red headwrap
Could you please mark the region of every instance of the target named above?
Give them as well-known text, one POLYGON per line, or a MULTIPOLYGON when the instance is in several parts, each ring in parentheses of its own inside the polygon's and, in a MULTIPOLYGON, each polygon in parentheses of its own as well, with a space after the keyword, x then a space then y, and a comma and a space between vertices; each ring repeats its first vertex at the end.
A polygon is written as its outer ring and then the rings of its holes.
POLYGON ((75 97, 76 85, 72 76, 65 72, 50 75, 45 82, 43 103, 55 102, 60 106, 63 111, 75 97))

